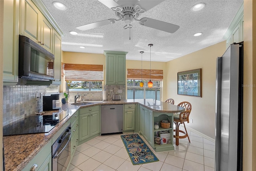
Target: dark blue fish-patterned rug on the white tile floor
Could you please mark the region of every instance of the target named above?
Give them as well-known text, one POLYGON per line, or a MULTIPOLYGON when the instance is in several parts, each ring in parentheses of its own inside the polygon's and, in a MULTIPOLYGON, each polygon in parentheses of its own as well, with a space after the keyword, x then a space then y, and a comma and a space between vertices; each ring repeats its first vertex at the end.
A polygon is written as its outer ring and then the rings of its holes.
POLYGON ((133 165, 159 161, 138 133, 121 135, 121 139, 133 165))

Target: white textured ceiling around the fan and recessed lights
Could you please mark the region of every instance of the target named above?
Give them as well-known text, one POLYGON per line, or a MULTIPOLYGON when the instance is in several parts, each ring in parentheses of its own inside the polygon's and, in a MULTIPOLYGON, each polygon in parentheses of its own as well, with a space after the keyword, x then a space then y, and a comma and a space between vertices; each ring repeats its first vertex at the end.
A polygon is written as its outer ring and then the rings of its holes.
MULTIPOLYGON (((141 26, 132 22, 132 43, 124 44, 124 22, 81 31, 78 26, 116 18, 110 10, 98 0, 58 0, 67 6, 61 11, 53 7, 56 0, 42 0, 60 28, 66 34, 62 37, 62 50, 65 52, 84 52, 103 54, 104 50, 126 51, 126 59, 141 60, 140 51, 144 51, 143 60, 167 62, 190 54, 202 48, 224 41, 223 36, 234 18, 243 0, 165 0, 141 14, 142 17, 176 24, 180 28, 173 34, 141 26), (203 2, 206 7, 198 12, 190 8, 203 2), (78 35, 69 34, 70 31, 78 35), (193 36, 202 32, 201 36, 193 36), (75 43, 77 45, 71 45, 75 43), (92 46, 93 45, 93 46, 92 46), (86 48, 81 49, 79 46, 86 48)), ((118 0, 115 0, 118 2, 118 0)), ((149 0, 150 1, 150 0, 149 0)))

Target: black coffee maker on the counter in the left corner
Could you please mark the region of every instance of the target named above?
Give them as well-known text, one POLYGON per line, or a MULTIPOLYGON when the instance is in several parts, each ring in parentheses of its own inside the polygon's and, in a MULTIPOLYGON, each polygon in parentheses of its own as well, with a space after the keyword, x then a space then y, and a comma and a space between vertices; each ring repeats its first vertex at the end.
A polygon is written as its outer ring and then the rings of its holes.
POLYGON ((51 94, 43 96, 43 111, 60 110, 56 107, 56 100, 60 99, 60 94, 51 94))

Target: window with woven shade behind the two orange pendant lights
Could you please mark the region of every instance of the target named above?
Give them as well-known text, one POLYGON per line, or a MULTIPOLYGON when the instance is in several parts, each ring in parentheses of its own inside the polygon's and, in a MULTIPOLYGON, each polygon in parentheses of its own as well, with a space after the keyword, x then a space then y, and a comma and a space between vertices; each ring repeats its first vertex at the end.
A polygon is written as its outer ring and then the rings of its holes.
POLYGON ((127 99, 161 100, 163 70, 127 69, 127 79, 127 99), (141 78, 144 87, 140 87, 141 78), (153 82, 152 88, 148 88, 149 80, 153 82))

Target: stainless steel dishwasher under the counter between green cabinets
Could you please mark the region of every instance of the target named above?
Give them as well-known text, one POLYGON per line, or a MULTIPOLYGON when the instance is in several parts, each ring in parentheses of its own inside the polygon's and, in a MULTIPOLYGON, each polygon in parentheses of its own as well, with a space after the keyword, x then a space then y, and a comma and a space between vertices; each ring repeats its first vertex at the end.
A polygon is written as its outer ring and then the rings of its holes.
POLYGON ((123 132, 123 105, 101 105, 101 135, 123 132))

